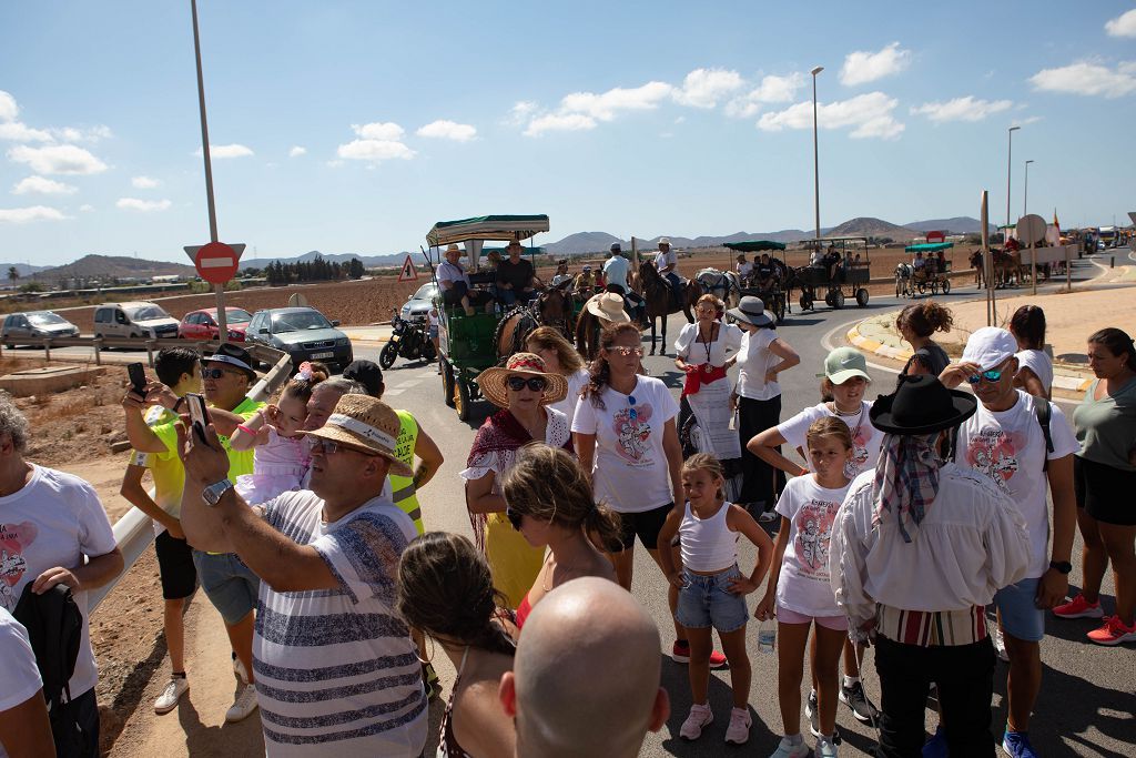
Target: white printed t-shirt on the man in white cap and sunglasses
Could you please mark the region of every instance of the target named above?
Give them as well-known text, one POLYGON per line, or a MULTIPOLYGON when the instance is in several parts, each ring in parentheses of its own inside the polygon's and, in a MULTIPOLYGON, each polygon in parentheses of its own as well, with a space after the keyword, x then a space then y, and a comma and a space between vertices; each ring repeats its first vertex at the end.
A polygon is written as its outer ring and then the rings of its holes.
MULTIPOLYGON (((1042 473, 1045 434, 1037 423, 1034 395, 1017 390, 1018 402, 1010 410, 993 411, 978 403, 978 411, 959 427, 957 463, 986 474, 1010 495, 1029 528, 1030 560, 1027 577, 1041 576, 1050 565, 1050 511, 1046 505, 1049 478, 1042 473)), ((1050 403, 1049 459, 1064 458, 1080 449, 1064 414, 1050 403)))

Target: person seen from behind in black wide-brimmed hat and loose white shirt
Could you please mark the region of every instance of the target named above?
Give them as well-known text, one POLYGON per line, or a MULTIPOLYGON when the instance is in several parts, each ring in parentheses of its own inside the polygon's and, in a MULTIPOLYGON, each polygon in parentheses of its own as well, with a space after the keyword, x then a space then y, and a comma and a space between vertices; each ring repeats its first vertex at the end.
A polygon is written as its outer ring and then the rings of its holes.
POLYGON ((939 438, 975 414, 975 398, 934 376, 900 378, 871 408, 886 436, 876 470, 853 481, 836 515, 830 581, 849 635, 875 640, 876 755, 920 755, 935 682, 950 753, 993 756, 995 657, 985 606, 1025 576, 1029 535, 988 477, 938 457, 939 438))

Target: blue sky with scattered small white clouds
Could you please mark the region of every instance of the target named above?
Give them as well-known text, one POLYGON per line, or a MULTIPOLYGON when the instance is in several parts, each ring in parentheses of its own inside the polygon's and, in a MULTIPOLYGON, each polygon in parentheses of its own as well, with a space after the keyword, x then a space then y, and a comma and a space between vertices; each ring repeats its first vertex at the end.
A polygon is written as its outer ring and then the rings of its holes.
MULTIPOLYGON (((545 242, 1136 209, 1136 5, 199 3, 220 238, 416 249, 546 213, 545 242), (1124 134, 1128 134, 1125 138, 1124 134), (229 157, 224 157, 224 156, 229 157)), ((0 260, 208 241, 189 0, 0 5, 0 260)))

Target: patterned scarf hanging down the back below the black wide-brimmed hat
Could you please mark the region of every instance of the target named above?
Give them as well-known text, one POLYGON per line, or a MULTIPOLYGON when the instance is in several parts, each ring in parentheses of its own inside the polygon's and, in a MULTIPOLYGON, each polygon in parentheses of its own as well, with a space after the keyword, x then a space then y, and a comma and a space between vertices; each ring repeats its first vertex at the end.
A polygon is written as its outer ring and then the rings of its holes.
POLYGON ((938 494, 938 469, 942 464, 935 452, 938 433, 922 436, 887 434, 884 436, 879 463, 876 464, 875 498, 879 502, 872 525, 884 520, 884 511, 895 511, 904 542, 911 536, 904 525, 916 526, 927 515, 927 508, 938 494))

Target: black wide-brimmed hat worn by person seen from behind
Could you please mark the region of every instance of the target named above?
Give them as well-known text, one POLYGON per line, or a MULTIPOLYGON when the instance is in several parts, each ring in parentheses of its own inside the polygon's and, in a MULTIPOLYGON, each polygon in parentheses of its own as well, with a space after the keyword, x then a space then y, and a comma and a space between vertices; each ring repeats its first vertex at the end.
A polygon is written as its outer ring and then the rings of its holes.
POLYGON ((958 426, 975 415, 978 400, 961 390, 947 390, 937 376, 901 376, 892 394, 871 406, 871 425, 886 434, 916 436, 958 426))

